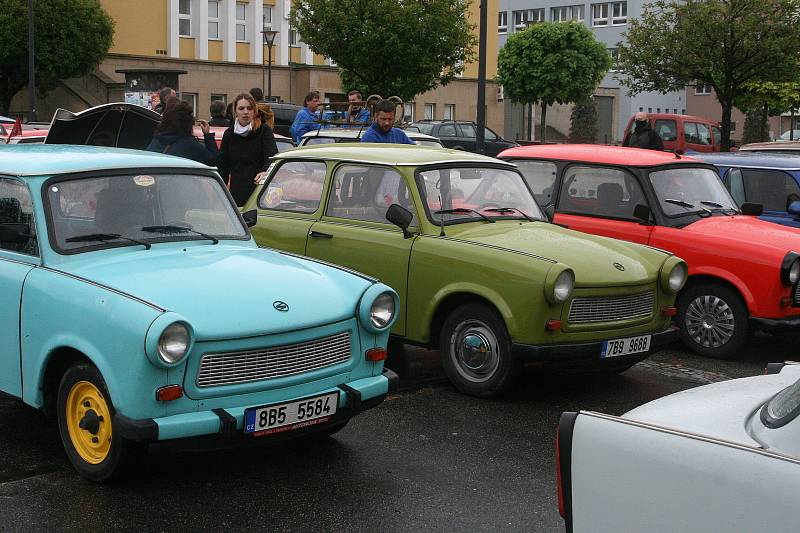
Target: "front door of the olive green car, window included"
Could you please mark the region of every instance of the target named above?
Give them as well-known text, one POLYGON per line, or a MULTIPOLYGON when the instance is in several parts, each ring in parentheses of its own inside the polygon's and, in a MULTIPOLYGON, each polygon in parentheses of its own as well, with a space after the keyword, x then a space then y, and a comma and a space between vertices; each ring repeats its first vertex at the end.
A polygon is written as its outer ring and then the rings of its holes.
MULTIPOLYGON (((392 331, 405 334, 408 263, 414 238, 386 220, 399 204, 418 218, 402 174, 388 167, 343 163, 334 173, 325 214, 314 223, 306 255, 376 277, 400 296, 400 313, 392 331)), ((413 231, 413 230, 412 230, 413 231)))

